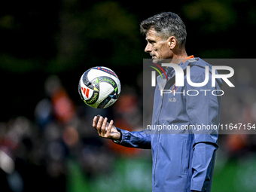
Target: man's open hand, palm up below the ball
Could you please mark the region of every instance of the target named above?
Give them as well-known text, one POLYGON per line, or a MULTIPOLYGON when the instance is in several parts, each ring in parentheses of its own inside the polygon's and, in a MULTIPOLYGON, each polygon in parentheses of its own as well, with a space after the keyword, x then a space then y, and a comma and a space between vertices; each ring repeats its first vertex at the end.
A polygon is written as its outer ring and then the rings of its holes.
POLYGON ((113 123, 113 120, 108 123, 108 118, 103 118, 99 114, 93 118, 93 127, 97 130, 99 136, 118 140, 120 139, 121 134, 117 131, 117 128, 113 125, 113 123))

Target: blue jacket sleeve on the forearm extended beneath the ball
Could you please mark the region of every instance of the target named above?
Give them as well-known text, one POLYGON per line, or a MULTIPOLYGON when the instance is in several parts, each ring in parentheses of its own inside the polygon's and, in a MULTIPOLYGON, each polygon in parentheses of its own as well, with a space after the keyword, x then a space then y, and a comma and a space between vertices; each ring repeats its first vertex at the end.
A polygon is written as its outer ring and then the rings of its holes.
POLYGON ((127 131, 117 128, 121 133, 120 141, 114 141, 115 143, 129 148, 145 148, 151 149, 151 135, 149 130, 142 131, 127 131))

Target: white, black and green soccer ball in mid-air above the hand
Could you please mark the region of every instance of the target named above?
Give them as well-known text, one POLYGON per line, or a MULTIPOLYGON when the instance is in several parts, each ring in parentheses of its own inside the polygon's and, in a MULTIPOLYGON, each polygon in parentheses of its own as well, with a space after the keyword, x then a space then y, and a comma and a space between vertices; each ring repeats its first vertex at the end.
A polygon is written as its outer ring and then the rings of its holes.
POLYGON ((88 69, 81 76, 78 93, 92 108, 108 108, 117 101, 121 85, 117 75, 103 66, 88 69))

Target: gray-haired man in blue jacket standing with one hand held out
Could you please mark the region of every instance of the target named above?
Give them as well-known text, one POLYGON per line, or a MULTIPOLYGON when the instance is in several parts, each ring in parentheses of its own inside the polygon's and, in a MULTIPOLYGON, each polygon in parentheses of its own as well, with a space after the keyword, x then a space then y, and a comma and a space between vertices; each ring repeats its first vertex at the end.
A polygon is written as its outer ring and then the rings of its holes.
MULTIPOLYGON (((205 80, 206 66, 209 68, 209 79, 212 79, 212 66, 200 58, 187 56, 185 50, 186 28, 181 18, 172 12, 157 14, 141 23, 141 32, 146 35, 145 52, 154 62, 170 59, 181 69, 190 66, 190 81, 201 83, 205 80)), ((212 175, 215 162, 215 151, 218 148, 218 131, 184 130, 182 127, 197 125, 218 125, 221 112, 221 96, 208 93, 190 96, 181 94, 187 90, 220 90, 220 79, 216 79, 215 87, 211 82, 202 87, 192 87, 184 75, 184 87, 175 86, 175 70, 166 69, 164 82, 157 78, 154 93, 152 126, 175 125, 176 133, 129 132, 108 123, 108 119, 100 115, 94 117, 93 127, 99 136, 112 139, 115 143, 132 148, 151 148, 152 191, 155 192, 191 192, 211 191, 212 175), (160 90, 169 90, 162 96, 160 90), (179 94, 177 94, 177 93, 179 94), (175 94, 176 93, 176 94, 175 94), (169 102, 175 101, 175 102, 169 102)), ((210 93, 210 92, 209 92, 210 93)))

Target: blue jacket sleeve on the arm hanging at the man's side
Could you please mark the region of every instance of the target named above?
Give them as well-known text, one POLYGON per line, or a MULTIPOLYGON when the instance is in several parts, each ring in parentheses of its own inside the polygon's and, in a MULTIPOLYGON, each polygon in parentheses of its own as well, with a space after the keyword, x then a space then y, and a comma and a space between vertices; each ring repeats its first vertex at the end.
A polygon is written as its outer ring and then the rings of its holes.
MULTIPOLYGON (((192 74, 192 73, 191 73, 192 74)), ((191 81, 203 82, 204 73, 191 75, 191 81)), ((212 87, 212 77, 209 75, 209 82, 203 87, 191 87, 186 84, 187 90, 191 90, 190 95, 186 94, 186 111, 190 119, 190 124, 196 129, 194 134, 194 155, 192 159, 192 178, 190 190, 205 191, 212 177, 215 161, 215 151, 218 148, 218 123, 220 117, 221 97, 216 96, 215 90, 219 87, 212 87), (214 91, 212 93, 212 91, 214 91), (198 94, 197 94, 198 93, 198 94), (192 96, 196 95, 197 96, 192 96)), ((208 186, 209 187, 209 186, 208 186)))

